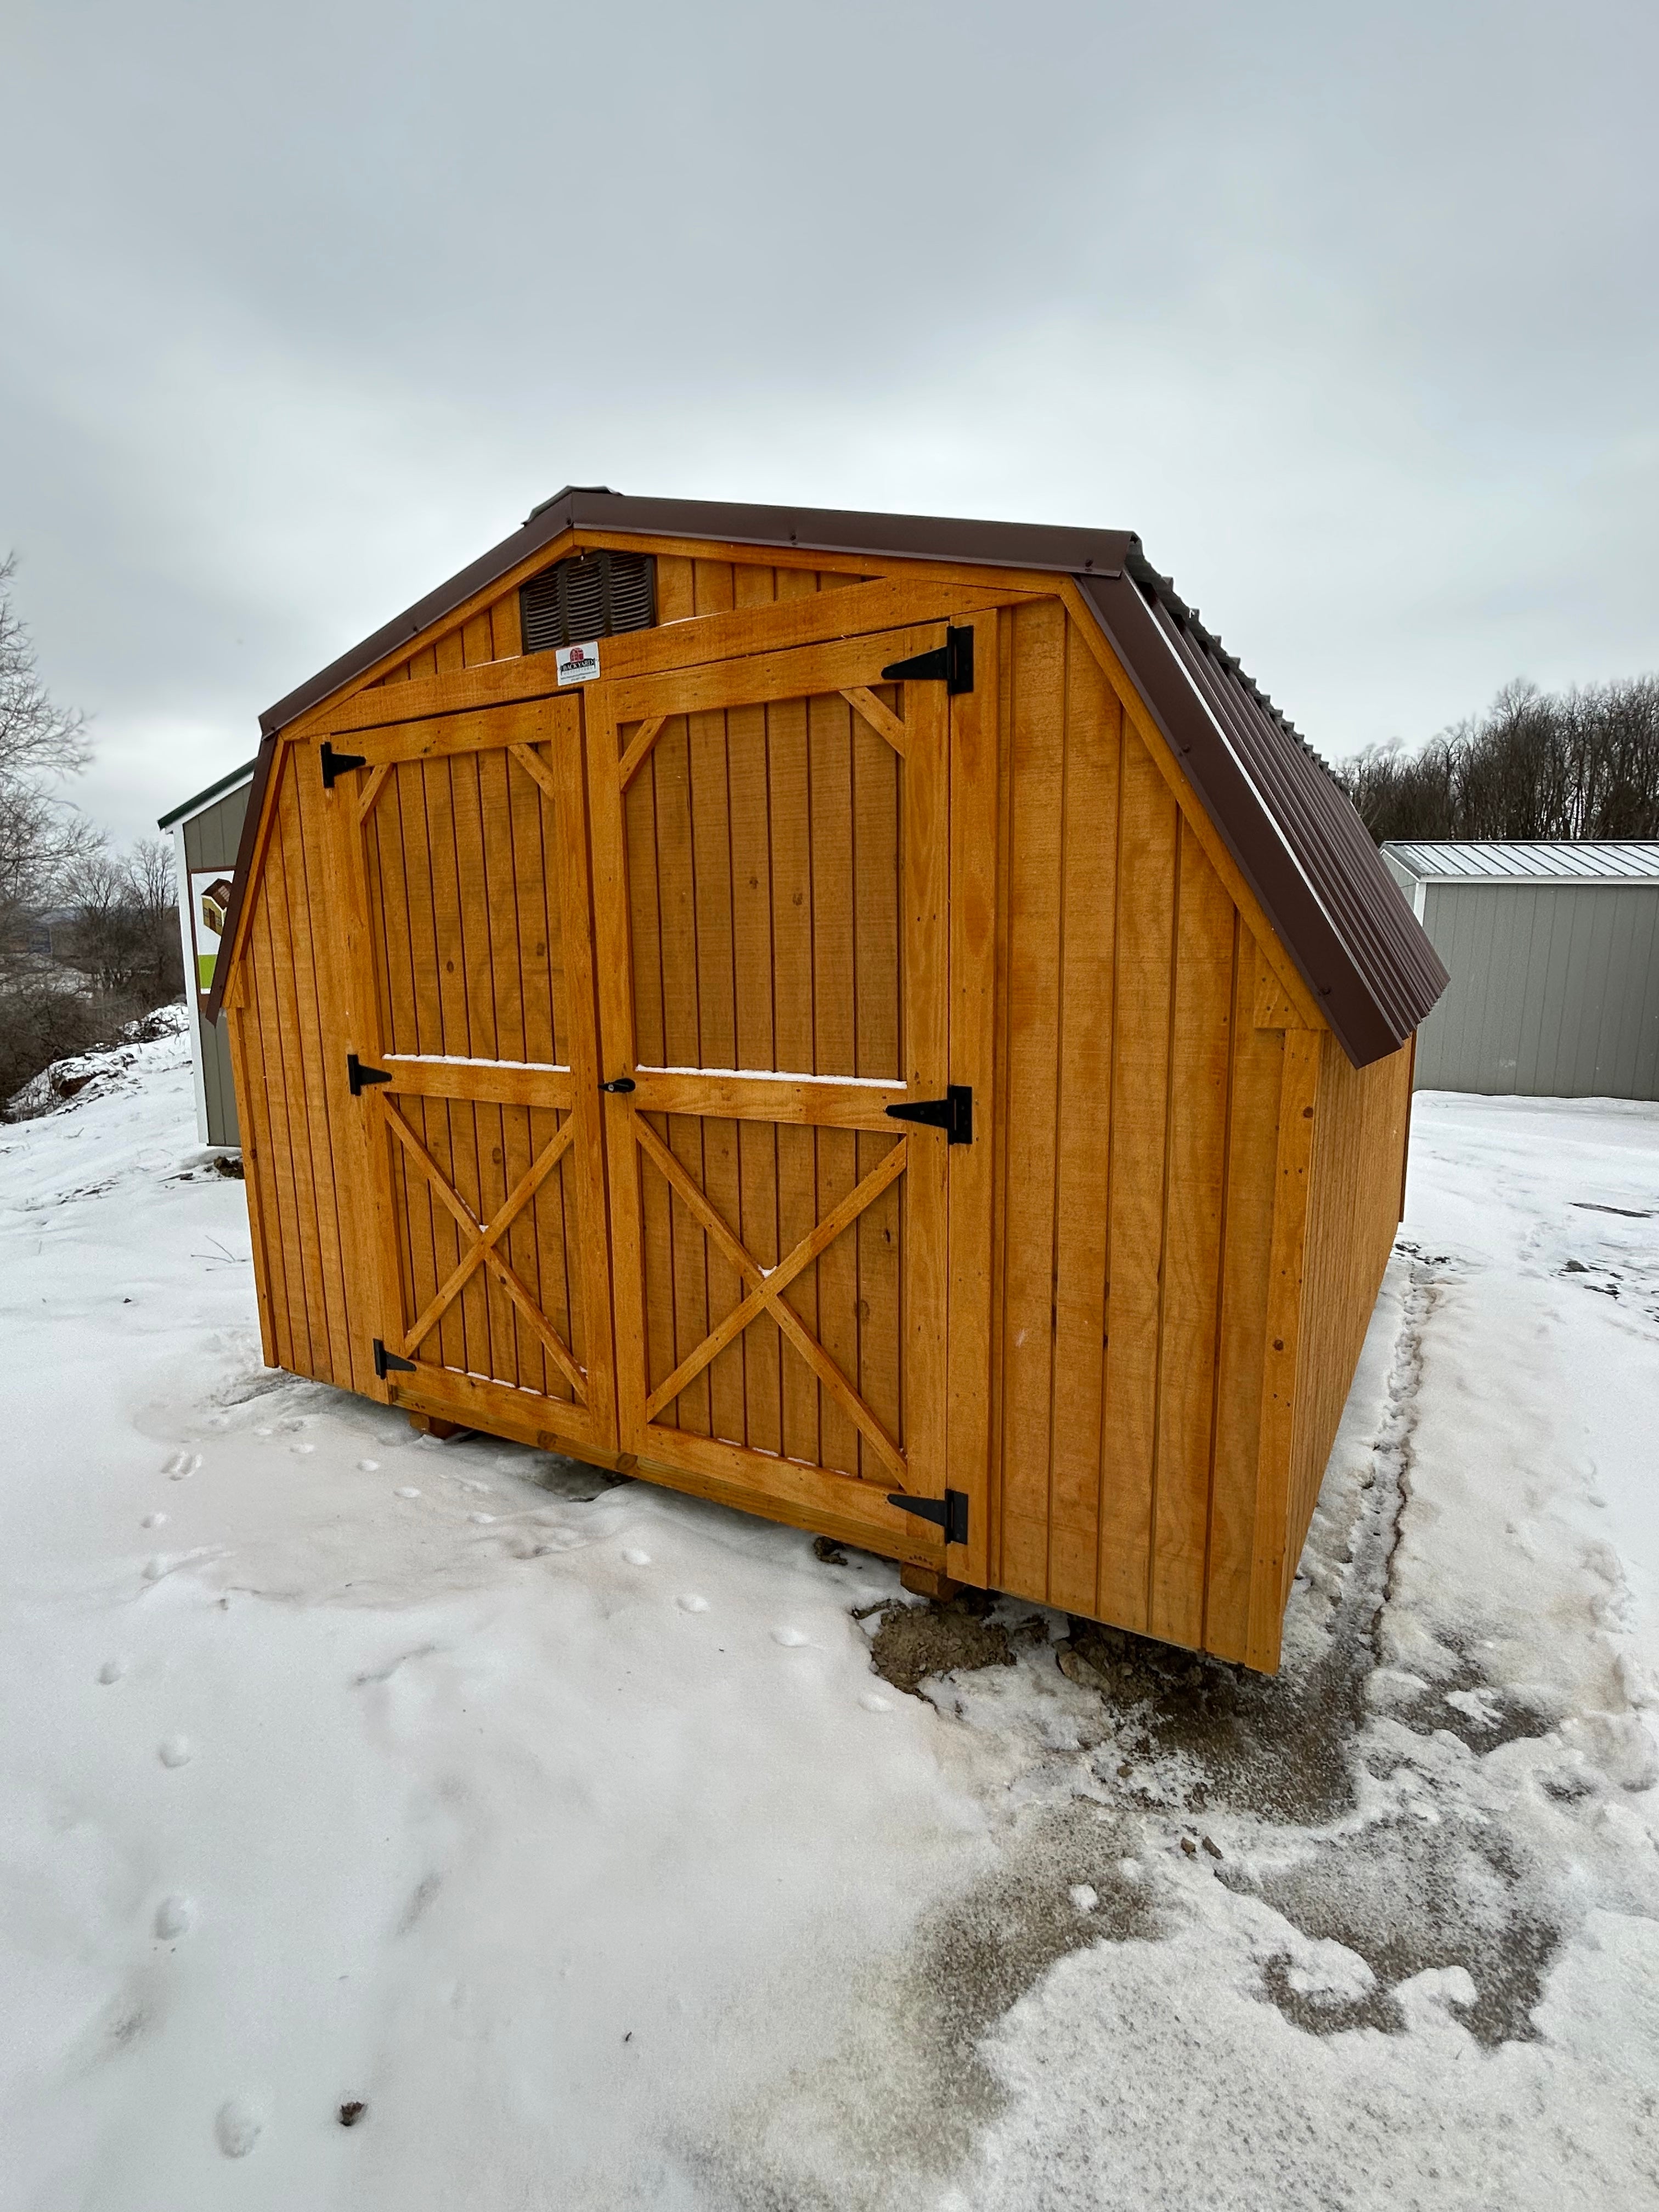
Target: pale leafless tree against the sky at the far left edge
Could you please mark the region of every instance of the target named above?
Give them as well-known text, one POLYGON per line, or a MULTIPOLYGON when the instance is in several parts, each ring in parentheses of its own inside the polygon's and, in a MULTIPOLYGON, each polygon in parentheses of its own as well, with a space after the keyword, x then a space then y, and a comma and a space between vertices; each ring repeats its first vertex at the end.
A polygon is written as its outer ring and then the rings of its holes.
POLYGON ((51 699, 35 648, 11 604, 18 560, 0 562, 0 936, 13 936, 29 905, 49 898, 62 869, 93 832, 55 792, 88 757, 86 723, 51 699))

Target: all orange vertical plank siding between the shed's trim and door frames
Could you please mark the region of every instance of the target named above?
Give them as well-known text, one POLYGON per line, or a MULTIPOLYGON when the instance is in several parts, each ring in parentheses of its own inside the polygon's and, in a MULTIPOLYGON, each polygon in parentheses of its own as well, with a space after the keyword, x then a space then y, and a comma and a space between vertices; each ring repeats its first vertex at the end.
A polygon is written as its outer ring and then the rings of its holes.
MULTIPOLYGON (((849 582, 659 557, 657 608, 677 622, 849 582)), ((995 624, 984 703, 998 728, 987 1575, 1272 1666, 1396 1230, 1409 1053, 1356 1073, 1329 1033, 1301 1026, 1066 606, 1026 599, 982 622, 995 624)), ((383 681, 518 648, 509 593, 383 681)), ((615 741, 626 750, 630 734, 615 741)), ((301 748, 307 763, 294 774, 290 757, 279 772, 232 1044, 268 1356, 352 1387, 361 1263, 336 1201, 336 1152, 349 1148, 332 1144, 343 1068, 325 1071, 323 1031, 338 956, 321 779, 301 748)), ((894 750, 834 690, 664 723, 619 821, 637 1064, 898 1077, 911 827, 894 750)), ((524 931, 526 911, 557 907, 555 874, 540 799, 515 790, 504 759, 394 768, 367 854, 387 1051, 568 1060, 557 929, 524 931), (509 883, 511 920, 491 902, 509 883)), ((984 905, 989 916, 989 889, 984 905)), ((920 987, 911 995, 925 1004, 920 987)), ((504 1104, 409 1097, 407 1110, 476 1214, 555 1128, 504 1104)), ((650 1128, 761 1267, 898 1141, 690 1113, 653 1115, 650 1128)), ((398 1259, 422 1310, 460 1245, 403 1159, 398 1172, 398 1259)), ((560 1336, 580 1343, 562 1183, 562 1170, 546 1181, 509 1254, 560 1336)), ((900 1221, 889 1188, 783 1296, 902 1444, 920 1352, 905 1336, 918 1261, 900 1221)), ((644 1155, 639 1248, 655 1391, 741 1283, 644 1155)), ((438 1332, 447 1367, 568 1396, 482 1274, 438 1332)), ((653 1418, 686 1431, 688 1449, 730 1440, 785 1471, 889 1482, 770 1316, 653 1418)))

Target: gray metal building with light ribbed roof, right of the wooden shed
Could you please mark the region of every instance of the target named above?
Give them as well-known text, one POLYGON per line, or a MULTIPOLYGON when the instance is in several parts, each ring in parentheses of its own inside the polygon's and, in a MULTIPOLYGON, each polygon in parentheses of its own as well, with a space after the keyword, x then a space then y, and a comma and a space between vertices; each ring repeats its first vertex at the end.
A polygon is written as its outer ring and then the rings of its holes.
POLYGON ((1659 843, 1383 858, 1451 971, 1418 1031, 1418 1091, 1659 1097, 1659 843))

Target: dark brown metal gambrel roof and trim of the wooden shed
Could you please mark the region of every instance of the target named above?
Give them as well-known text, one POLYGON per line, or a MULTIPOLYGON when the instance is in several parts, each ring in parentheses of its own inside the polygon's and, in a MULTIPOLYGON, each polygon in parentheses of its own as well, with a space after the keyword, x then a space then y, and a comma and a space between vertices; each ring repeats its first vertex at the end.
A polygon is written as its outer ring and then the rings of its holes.
MULTIPOLYGON (((1365 1066, 1396 1051, 1444 991, 1447 971, 1347 792, 1170 580, 1146 562, 1133 531, 633 500, 575 484, 259 717, 263 741, 237 854, 228 945, 237 940, 276 732, 568 529, 1073 577, 1347 1057, 1365 1066)), ((228 962, 221 960, 210 1018, 219 1013, 226 980, 228 962)))

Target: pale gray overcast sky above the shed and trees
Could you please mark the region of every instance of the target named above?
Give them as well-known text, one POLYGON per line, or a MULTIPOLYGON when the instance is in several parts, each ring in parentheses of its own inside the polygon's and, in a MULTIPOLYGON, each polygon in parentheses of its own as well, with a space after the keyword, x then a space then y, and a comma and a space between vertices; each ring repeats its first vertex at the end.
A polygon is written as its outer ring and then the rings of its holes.
POLYGON ((564 482, 1137 529, 1329 757, 1655 668, 1657 66, 1652 0, 0 0, 80 796, 564 482))

